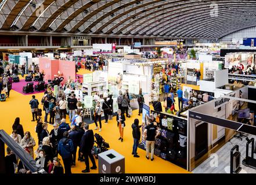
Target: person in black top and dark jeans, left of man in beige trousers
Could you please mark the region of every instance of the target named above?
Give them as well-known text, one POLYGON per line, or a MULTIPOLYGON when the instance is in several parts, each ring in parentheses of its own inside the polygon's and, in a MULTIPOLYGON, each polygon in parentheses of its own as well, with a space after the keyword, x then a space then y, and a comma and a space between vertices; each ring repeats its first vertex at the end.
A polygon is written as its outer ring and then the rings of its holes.
POLYGON ((134 138, 134 145, 132 146, 132 155, 134 155, 134 157, 139 157, 137 154, 137 149, 140 140, 140 127, 141 125, 139 125, 139 120, 135 119, 134 123, 132 124, 132 137, 134 138))

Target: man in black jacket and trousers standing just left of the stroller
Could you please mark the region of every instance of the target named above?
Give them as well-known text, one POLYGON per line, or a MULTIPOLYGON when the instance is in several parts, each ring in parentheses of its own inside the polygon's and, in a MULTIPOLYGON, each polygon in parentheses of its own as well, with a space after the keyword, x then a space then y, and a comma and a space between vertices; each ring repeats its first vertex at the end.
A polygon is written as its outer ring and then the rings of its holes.
POLYGON ((95 160, 92 156, 92 147, 94 145, 94 135, 93 131, 89 129, 89 124, 84 125, 84 135, 82 136, 81 140, 81 154, 85 158, 85 170, 82 171, 82 173, 88 173, 90 172, 89 168, 89 158, 92 161, 92 167, 91 169, 97 169, 95 160), (89 158, 88 158, 89 157, 89 158))

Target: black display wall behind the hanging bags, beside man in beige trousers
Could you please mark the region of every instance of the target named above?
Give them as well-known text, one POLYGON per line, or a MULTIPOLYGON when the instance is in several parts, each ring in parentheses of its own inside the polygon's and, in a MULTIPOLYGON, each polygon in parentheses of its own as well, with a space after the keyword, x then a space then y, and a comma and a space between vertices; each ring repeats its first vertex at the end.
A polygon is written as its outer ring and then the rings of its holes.
MULTIPOLYGON (((175 165, 181 166, 184 169, 187 169, 188 164, 187 164, 187 160, 188 160, 188 155, 187 155, 187 151, 188 151, 188 121, 185 119, 180 119, 179 117, 176 116, 171 116, 170 114, 165 114, 165 113, 160 113, 160 112, 156 112, 154 110, 151 110, 152 114, 160 114, 160 124, 159 127, 161 128, 161 132, 162 131, 166 131, 166 132, 170 132, 173 135, 173 139, 172 139, 172 143, 170 145, 170 143, 168 143, 168 147, 166 151, 161 151, 161 153, 167 153, 167 158, 165 160, 172 162, 175 165), (168 129, 168 127, 163 127, 163 125, 161 124, 161 120, 164 118, 164 116, 167 116, 167 118, 171 118, 173 120, 172 122, 172 131, 170 129, 168 129), (181 127, 179 127, 179 125, 185 125, 185 131, 181 131, 181 127), (185 147, 181 146, 180 143, 180 135, 184 138, 184 136, 186 137, 186 142, 185 142, 185 147), (168 157, 168 153, 172 151, 174 153, 174 158, 170 158, 168 157), (181 155, 182 153, 182 155, 181 155)), ((156 120, 155 120, 156 121, 156 120)), ((166 142, 161 135, 160 137, 158 137, 158 139, 160 140, 164 140, 164 142, 166 142)), ((167 140, 168 142, 168 140, 167 140)), ((156 149, 158 149, 159 147, 157 145, 155 145, 155 151, 156 149)))

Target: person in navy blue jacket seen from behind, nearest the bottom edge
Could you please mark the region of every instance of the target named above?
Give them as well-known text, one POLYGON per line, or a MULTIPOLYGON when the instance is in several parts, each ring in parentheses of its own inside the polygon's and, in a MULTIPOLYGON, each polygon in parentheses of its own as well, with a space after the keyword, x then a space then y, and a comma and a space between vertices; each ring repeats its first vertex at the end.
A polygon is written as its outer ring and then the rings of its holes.
POLYGON ((74 145, 71 139, 68 139, 68 132, 65 131, 63 138, 60 139, 57 148, 58 153, 62 156, 64 169, 66 174, 71 174, 71 162, 73 160, 72 154, 74 151, 74 145))

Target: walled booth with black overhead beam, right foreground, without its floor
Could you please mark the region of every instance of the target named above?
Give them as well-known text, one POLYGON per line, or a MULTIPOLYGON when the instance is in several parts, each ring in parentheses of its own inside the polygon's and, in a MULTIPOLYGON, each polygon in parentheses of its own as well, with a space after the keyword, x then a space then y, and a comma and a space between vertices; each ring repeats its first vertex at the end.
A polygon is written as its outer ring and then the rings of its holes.
POLYGON ((189 110, 189 171, 234 136, 246 139, 241 133, 256 135, 255 92, 255 87, 242 87, 189 110))

